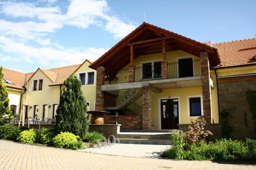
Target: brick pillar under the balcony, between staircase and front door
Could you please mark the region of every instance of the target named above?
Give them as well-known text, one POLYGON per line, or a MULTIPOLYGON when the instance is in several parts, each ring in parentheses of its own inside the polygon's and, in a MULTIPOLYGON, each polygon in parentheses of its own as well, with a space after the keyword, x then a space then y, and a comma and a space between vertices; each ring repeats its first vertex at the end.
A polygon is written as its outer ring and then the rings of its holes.
POLYGON ((151 130, 151 87, 142 87, 142 130, 151 130))

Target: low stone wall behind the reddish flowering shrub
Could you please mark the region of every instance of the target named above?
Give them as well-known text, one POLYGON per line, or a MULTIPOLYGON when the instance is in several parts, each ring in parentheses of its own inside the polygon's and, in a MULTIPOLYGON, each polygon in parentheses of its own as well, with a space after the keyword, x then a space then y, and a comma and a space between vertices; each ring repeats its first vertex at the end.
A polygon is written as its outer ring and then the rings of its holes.
MULTIPOLYGON (((179 129, 183 131, 188 131, 188 124, 179 125, 179 129)), ((213 135, 209 135, 207 140, 215 141, 216 139, 221 139, 221 125, 220 124, 206 124, 205 130, 209 130, 213 135)))

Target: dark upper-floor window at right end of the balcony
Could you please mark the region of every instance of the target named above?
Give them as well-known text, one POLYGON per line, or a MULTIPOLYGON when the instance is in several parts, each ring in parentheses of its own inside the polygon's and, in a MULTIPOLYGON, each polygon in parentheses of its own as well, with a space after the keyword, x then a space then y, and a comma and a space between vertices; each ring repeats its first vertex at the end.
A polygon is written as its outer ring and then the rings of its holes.
POLYGON ((193 77, 193 58, 179 59, 179 77, 193 77))

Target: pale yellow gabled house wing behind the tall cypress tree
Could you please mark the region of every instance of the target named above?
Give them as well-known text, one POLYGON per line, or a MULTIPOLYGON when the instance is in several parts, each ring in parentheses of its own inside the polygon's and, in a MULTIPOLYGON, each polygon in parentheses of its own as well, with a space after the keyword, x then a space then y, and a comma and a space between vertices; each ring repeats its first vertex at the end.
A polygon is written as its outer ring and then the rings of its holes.
POLYGON ((88 66, 92 64, 86 60, 82 64, 58 67, 52 69, 38 68, 35 72, 26 74, 23 95, 25 119, 38 118, 44 122, 55 119, 56 109, 62 91, 65 89, 63 82, 72 74, 82 81, 83 95, 86 97, 88 110, 94 109, 95 83, 94 71, 88 66))

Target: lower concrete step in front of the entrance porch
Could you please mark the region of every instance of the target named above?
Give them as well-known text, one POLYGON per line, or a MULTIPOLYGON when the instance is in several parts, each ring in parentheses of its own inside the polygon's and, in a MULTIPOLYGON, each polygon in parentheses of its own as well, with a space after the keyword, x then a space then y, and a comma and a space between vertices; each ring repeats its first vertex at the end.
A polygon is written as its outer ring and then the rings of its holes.
POLYGON ((120 143, 127 144, 159 144, 159 145, 170 145, 171 140, 168 139, 128 139, 119 138, 120 143))

